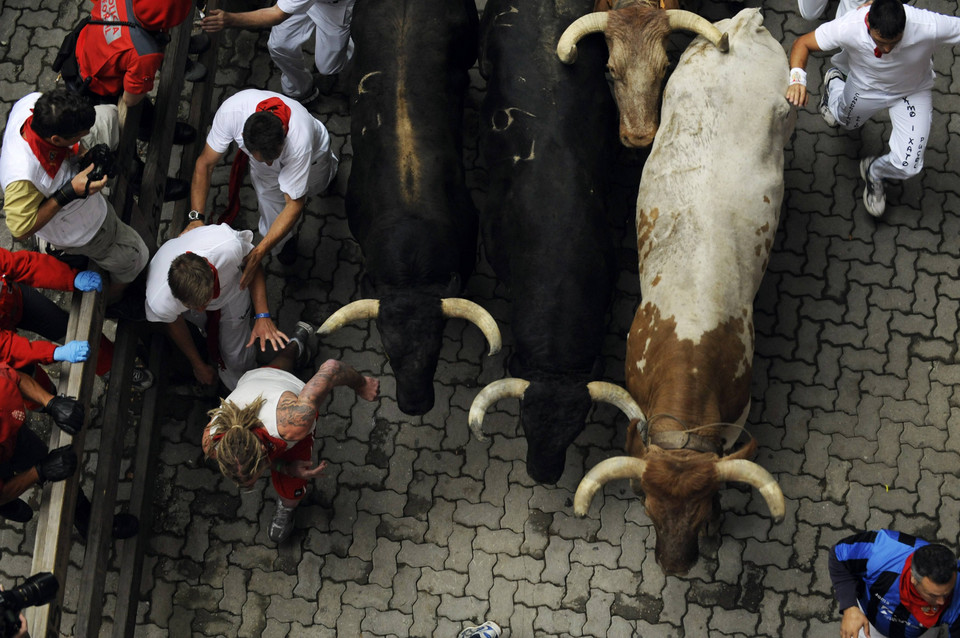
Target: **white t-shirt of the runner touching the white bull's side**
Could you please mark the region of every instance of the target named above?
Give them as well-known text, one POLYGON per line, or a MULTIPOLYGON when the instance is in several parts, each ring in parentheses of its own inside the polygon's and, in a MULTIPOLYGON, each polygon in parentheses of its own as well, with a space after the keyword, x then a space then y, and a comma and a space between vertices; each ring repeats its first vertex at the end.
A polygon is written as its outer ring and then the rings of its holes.
POLYGON ((860 7, 817 27, 824 51, 842 48, 849 56, 849 79, 867 95, 910 95, 933 87, 933 53, 943 44, 960 44, 960 18, 904 5, 903 39, 876 57, 866 24, 870 7, 860 7))

